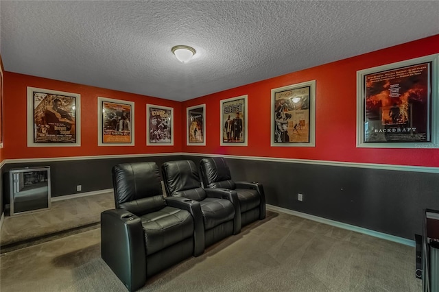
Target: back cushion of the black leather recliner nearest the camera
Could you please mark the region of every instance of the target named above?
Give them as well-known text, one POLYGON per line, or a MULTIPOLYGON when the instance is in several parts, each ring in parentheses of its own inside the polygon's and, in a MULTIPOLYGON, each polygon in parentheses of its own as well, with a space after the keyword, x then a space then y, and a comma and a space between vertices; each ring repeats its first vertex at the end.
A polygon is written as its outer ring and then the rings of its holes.
POLYGON ((112 168, 116 208, 141 216, 166 206, 155 162, 135 162, 112 168))

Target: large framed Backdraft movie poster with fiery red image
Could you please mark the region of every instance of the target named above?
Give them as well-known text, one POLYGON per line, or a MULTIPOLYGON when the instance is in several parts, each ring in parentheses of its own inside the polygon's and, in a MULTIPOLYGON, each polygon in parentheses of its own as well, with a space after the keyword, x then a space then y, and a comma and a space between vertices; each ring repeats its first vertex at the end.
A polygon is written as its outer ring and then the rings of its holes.
POLYGON ((435 55, 357 71, 357 147, 438 148, 437 67, 435 55))

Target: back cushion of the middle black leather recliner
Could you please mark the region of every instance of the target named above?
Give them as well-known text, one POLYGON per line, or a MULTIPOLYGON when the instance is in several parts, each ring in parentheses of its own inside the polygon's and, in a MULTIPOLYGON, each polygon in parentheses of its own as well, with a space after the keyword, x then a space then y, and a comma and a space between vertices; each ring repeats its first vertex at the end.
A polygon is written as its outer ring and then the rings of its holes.
POLYGON ((168 195, 200 201, 206 197, 198 169, 192 160, 168 161, 162 165, 168 195))

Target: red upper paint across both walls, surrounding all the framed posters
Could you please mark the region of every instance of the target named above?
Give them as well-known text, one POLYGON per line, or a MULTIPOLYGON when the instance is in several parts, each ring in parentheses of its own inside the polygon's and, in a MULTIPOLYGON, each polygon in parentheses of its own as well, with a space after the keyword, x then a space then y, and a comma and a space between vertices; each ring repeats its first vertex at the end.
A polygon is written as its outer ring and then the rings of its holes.
MULTIPOLYGON (((438 149, 357 148, 357 71, 439 53, 439 35, 263 80, 185 102, 4 73, 0 159, 190 152, 439 167, 438 149), (272 88, 316 80, 316 147, 270 147, 272 88), (27 147, 26 87, 81 95, 81 147, 27 147), (219 146, 219 101, 248 95, 248 147, 219 146), (135 146, 97 146, 97 97, 135 102, 135 146), (146 104, 174 108, 174 146, 146 146, 146 104), (186 145, 186 108, 206 104, 206 146, 186 145), (178 123, 180 125, 178 125, 178 123)), ((437 88, 436 88, 437 90, 437 88)))

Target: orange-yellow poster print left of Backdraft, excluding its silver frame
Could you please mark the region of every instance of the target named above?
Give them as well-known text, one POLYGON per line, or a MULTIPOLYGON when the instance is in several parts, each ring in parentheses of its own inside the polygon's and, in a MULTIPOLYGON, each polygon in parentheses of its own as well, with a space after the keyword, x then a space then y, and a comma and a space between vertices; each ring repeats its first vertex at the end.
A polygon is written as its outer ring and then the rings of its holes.
POLYGON ((274 143, 309 143, 310 86, 274 93, 274 143))

